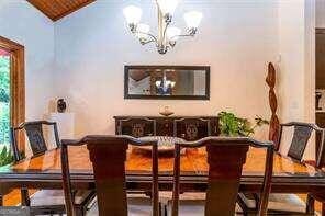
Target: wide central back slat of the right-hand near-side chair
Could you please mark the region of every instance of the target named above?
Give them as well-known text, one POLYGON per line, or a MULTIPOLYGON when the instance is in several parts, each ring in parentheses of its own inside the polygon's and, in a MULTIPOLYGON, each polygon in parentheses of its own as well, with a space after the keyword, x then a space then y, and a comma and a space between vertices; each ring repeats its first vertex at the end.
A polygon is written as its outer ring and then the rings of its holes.
POLYGON ((209 185, 205 215, 234 215, 248 145, 208 145, 209 185))

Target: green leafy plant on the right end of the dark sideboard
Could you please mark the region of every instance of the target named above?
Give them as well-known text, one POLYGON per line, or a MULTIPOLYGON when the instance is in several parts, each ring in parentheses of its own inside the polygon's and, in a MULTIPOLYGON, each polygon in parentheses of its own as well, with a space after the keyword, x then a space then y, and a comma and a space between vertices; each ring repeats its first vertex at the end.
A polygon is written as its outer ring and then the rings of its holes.
POLYGON ((220 112, 217 116, 220 117, 222 136, 250 136, 257 127, 269 124, 269 121, 256 116, 253 125, 247 118, 237 117, 234 113, 224 111, 220 112))

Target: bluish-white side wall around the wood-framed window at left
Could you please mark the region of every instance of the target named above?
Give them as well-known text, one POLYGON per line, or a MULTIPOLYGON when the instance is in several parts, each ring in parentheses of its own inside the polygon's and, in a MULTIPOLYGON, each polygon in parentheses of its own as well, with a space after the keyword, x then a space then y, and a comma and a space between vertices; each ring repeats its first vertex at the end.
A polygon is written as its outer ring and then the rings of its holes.
POLYGON ((0 1, 0 35, 25 46, 26 120, 43 118, 54 95, 54 24, 24 0, 0 1))

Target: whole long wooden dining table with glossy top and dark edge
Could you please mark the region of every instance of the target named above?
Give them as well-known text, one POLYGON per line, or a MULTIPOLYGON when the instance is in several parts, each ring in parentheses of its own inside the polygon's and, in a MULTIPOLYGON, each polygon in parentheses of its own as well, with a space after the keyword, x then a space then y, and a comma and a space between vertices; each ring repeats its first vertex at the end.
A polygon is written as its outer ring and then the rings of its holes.
MULTIPOLYGON (((239 191, 258 192, 261 187, 266 151, 250 148, 243 168, 239 191)), ((159 156, 159 190, 172 189, 173 157, 159 156)), ((126 187, 130 191, 149 191, 152 183, 152 158, 148 154, 128 149, 125 162, 126 187)), ((71 181, 76 189, 93 189, 92 164, 86 146, 69 147, 71 181)), ((208 181, 206 151, 187 149, 181 155, 181 189, 204 191, 208 181)), ((110 164, 108 164, 110 169, 110 164)), ((0 193, 11 189, 61 189, 60 149, 26 158, 0 169, 0 193)), ((293 161, 274 154, 273 193, 317 193, 325 195, 325 172, 310 164, 293 161)))

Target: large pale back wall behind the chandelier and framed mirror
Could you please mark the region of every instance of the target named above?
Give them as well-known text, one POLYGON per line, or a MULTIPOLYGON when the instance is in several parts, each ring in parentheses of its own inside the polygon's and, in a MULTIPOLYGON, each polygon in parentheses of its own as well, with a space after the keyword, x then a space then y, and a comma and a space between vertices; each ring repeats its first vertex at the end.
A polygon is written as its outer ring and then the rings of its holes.
MULTIPOLYGON (((278 54, 278 2, 274 0, 184 0, 176 10, 203 12, 199 34, 181 39, 165 56, 141 46, 128 33, 122 9, 134 1, 96 1, 55 25, 57 96, 76 113, 78 136, 114 133, 113 115, 157 115, 169 105, 177 115, 216 115, 234 111, 269 117, 267 62, 278 54), (210 65, 210 101, 123 99, 124 65, 210 65)), ((143 21, 156 30, 153 1, 137 1, 143 21), (141 3, 139 3, 141 2, 141 3)), ((259 134, 265 137, 265 134, 259 134)))

